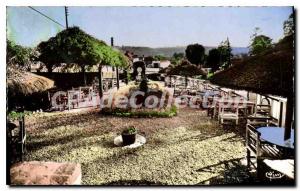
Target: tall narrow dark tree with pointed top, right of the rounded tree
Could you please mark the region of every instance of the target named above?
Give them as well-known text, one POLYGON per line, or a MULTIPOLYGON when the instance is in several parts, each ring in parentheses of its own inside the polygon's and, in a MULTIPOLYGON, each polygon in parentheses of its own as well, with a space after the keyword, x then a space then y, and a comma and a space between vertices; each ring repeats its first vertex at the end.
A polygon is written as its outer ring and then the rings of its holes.
POLYGON ((228 38, 224 42, 221 42, 221 44, 218 47, 218 50, 221 55, 222 67, 228 68, 229 66, 231 66, 231 58, 233 57, 233 55, 231 53, 232 48, 230 46, 228 38))

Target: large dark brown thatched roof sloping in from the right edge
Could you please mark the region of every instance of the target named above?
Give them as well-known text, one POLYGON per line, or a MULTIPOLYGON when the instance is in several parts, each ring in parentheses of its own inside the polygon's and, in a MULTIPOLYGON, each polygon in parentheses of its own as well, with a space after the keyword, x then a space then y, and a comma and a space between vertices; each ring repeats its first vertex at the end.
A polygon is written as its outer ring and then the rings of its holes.
POLYGON ((286 97, 293 94, 293 56, 293 38, 286 37, 273 49, 216 73, 210 81, 232 89, 286 97))

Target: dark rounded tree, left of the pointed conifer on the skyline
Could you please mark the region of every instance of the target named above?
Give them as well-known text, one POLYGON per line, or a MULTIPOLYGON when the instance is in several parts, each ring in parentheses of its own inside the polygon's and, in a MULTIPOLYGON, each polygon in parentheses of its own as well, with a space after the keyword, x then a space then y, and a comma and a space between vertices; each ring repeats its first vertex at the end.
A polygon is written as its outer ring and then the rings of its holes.
POLYGON ((190 44, 185 49, 188 61, 195 65, 202 65, 204 62, 205 48, 200 44, 190 44))

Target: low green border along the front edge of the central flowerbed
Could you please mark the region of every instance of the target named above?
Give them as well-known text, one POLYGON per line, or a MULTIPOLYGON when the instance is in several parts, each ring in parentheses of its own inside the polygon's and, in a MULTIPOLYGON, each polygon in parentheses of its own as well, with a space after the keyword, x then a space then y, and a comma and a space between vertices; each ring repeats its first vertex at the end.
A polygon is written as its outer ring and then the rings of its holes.
POLYGON ((166 111, 129 111, 121 109, 108 111, 103 109, 102 113, 105 115, 115 115, 118 117, 173 117, 177 115, 177 107, 172 105, 171 108, 166 111))

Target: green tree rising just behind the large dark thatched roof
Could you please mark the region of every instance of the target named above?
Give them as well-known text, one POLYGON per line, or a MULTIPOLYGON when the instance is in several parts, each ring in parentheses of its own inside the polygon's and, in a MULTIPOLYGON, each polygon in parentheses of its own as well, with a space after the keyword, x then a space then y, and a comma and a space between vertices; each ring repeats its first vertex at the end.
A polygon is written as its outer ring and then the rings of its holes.
POLYGON ((272 39, 268 36, 259 34, 260 29, 255 28, 254 34, 251 36, 250 54, 257 55, 265 52, 272 47, 272 39))

